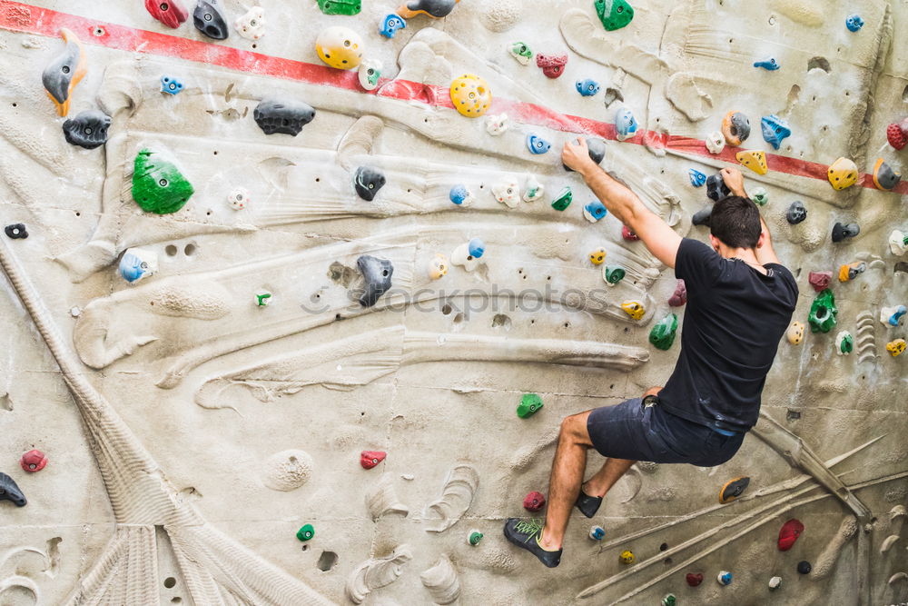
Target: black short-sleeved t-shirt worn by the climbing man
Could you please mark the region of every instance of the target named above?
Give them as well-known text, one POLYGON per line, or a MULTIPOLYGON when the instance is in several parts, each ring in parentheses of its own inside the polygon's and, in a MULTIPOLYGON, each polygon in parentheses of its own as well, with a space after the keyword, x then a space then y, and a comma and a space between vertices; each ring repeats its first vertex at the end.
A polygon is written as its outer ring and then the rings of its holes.
POLYGON ((798 294, 784 265, 765 269, 768 275, 705 243, 681 241, 675 275, 685 281, 687 308, 675 372, 659 392, 667 412, 733 432, 755 425, 798 294))

